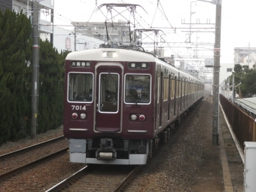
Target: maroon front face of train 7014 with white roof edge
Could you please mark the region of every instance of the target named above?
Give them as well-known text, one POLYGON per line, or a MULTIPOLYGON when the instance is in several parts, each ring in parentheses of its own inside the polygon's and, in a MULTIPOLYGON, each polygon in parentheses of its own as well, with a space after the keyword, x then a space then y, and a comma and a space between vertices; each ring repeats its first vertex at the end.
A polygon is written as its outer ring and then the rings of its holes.
POLYGON ((69 53, 64 136, 71 162, 147 162, 154 138, 154 63, 154 56, 133 50, 69 53))

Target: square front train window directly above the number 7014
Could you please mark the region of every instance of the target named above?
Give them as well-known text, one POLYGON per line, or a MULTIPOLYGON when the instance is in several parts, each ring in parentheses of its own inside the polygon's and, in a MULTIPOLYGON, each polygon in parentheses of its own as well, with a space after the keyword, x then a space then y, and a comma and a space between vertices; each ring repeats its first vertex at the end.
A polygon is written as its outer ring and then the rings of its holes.
POLYGON ((93 101, 93 74, 69 73, 69 101, 93 101))

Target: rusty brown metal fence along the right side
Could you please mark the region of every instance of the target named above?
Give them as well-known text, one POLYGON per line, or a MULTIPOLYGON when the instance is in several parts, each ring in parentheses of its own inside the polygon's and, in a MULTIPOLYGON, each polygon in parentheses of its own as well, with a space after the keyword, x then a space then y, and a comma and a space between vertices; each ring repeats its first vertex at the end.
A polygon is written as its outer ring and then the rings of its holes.
POLYGON ((244 142, 256 142, 256 122, 254 119, 221 94, 220 102, 242 148, 244 149, 244 142))

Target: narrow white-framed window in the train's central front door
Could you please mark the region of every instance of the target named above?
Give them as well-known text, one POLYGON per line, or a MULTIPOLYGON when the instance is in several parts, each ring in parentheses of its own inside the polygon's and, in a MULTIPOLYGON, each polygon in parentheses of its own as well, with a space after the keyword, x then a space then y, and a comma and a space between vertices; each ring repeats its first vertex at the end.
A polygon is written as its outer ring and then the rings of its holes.
POLYGON ((118 112, 119 75, 117 73, 101 73, 99 75, 99 111, 118 112))

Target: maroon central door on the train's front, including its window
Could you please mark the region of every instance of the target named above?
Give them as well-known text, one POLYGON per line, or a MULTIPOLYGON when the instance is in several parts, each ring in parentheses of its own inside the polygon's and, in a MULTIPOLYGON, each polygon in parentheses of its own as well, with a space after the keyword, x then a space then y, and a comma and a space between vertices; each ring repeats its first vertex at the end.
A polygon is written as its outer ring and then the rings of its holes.
POLYGON ((96 132, 120 132, 122 130, 123 66, 114 63, 96 65, 96 132))

